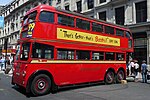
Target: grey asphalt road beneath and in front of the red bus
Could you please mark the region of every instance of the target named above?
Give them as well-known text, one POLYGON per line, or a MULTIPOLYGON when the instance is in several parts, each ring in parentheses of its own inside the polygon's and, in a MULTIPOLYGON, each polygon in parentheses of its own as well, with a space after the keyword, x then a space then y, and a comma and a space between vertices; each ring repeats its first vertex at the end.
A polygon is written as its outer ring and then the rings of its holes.
POLYGON ((55 94, 39 97, 27 97, 23 89, 11 85, 11 76, 0 73, 0 100, 150 100, 150 84, 98 84, 60 89, 55 94))

